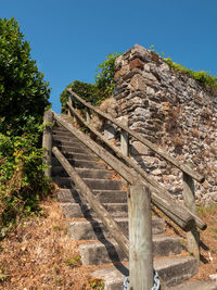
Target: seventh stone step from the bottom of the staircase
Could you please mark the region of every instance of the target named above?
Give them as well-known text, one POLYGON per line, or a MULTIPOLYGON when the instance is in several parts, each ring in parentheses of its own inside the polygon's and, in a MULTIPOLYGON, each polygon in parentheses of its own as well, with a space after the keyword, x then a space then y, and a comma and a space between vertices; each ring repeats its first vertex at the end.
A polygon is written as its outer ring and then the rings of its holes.
MULTIPOLYGON (((93 168, 76 168, 76 172, 79 174, 80 177, 84 178, 99 178, 99 179, 106 179, 112 177, 111 171, 103 171, 103 169, 93 169, 93 168)), ((62 166, 53 166, 52 168, 52 176, 61 176, 66 177, 68 176, 64 167, 62 166)))

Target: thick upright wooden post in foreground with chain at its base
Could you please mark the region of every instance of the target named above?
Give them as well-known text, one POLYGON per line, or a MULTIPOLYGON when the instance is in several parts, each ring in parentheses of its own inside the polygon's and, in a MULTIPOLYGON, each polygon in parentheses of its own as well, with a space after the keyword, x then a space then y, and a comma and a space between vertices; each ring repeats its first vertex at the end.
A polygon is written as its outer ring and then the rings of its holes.
POLYGON ((129 189, 129 279, 130 289, 153 287, 151 193, 143 185, 129 189))

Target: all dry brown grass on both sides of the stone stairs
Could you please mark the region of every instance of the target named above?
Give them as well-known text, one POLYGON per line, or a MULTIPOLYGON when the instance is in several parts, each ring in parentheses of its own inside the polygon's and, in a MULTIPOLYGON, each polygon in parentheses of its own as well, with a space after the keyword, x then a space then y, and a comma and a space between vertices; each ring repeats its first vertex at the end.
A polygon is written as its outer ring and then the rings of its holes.
MULTIPOLYGON (((97 267, 80 263, 78 244, 67 236, 59 203, 47 200, 41 207, 43 216, 23 220, 0 243, 0 289, 101 289, 90 276, 97 267)), ((194 279, 207 280, 217 274, 217 206, 199 207, 199 214, 208 228, 201 231, 201 266, 194 279)), ((167 234, 184 238, 170 223, 167 234)))

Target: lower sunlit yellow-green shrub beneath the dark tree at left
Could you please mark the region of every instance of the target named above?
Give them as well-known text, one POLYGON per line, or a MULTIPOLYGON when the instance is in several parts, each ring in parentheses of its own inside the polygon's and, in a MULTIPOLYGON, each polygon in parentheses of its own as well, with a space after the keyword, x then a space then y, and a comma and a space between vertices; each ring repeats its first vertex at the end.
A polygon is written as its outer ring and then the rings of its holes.
MULTIPOLYGON (((43 150, 37 147, 40 135, 0 134, 0 226, 39 210, 38 202, 50 190, 44 177, 43 150)), ((1 236, 4 236, 1 231, 1 236)))

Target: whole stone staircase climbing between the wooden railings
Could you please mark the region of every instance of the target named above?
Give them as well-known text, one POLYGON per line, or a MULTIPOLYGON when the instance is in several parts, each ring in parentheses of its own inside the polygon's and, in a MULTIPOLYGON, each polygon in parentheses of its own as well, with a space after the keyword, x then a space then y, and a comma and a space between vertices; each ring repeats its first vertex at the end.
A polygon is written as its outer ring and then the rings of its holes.
MULTIPOLYGON (((53 128, 53 144, 67 157, 87 186, 128 235, 127 192, 123 180, 114 179, 114 173, 84 143, 63 127, 53 128)), ((58 200, 68 222, 72 239, 80 240, 82 265, 99 265, 92 273, 104 280, 104 289, 123 289, 128 276, 125 254, 105 230, 94 212, 79 197, 73 181, 52 157, 52 179, 60 187, 58 200)), ((190 279, 196 274, 196 261, 184 253, 179 238, 165 236, 165 222, 152 218, 154 268, 170 287, 190 279)))

